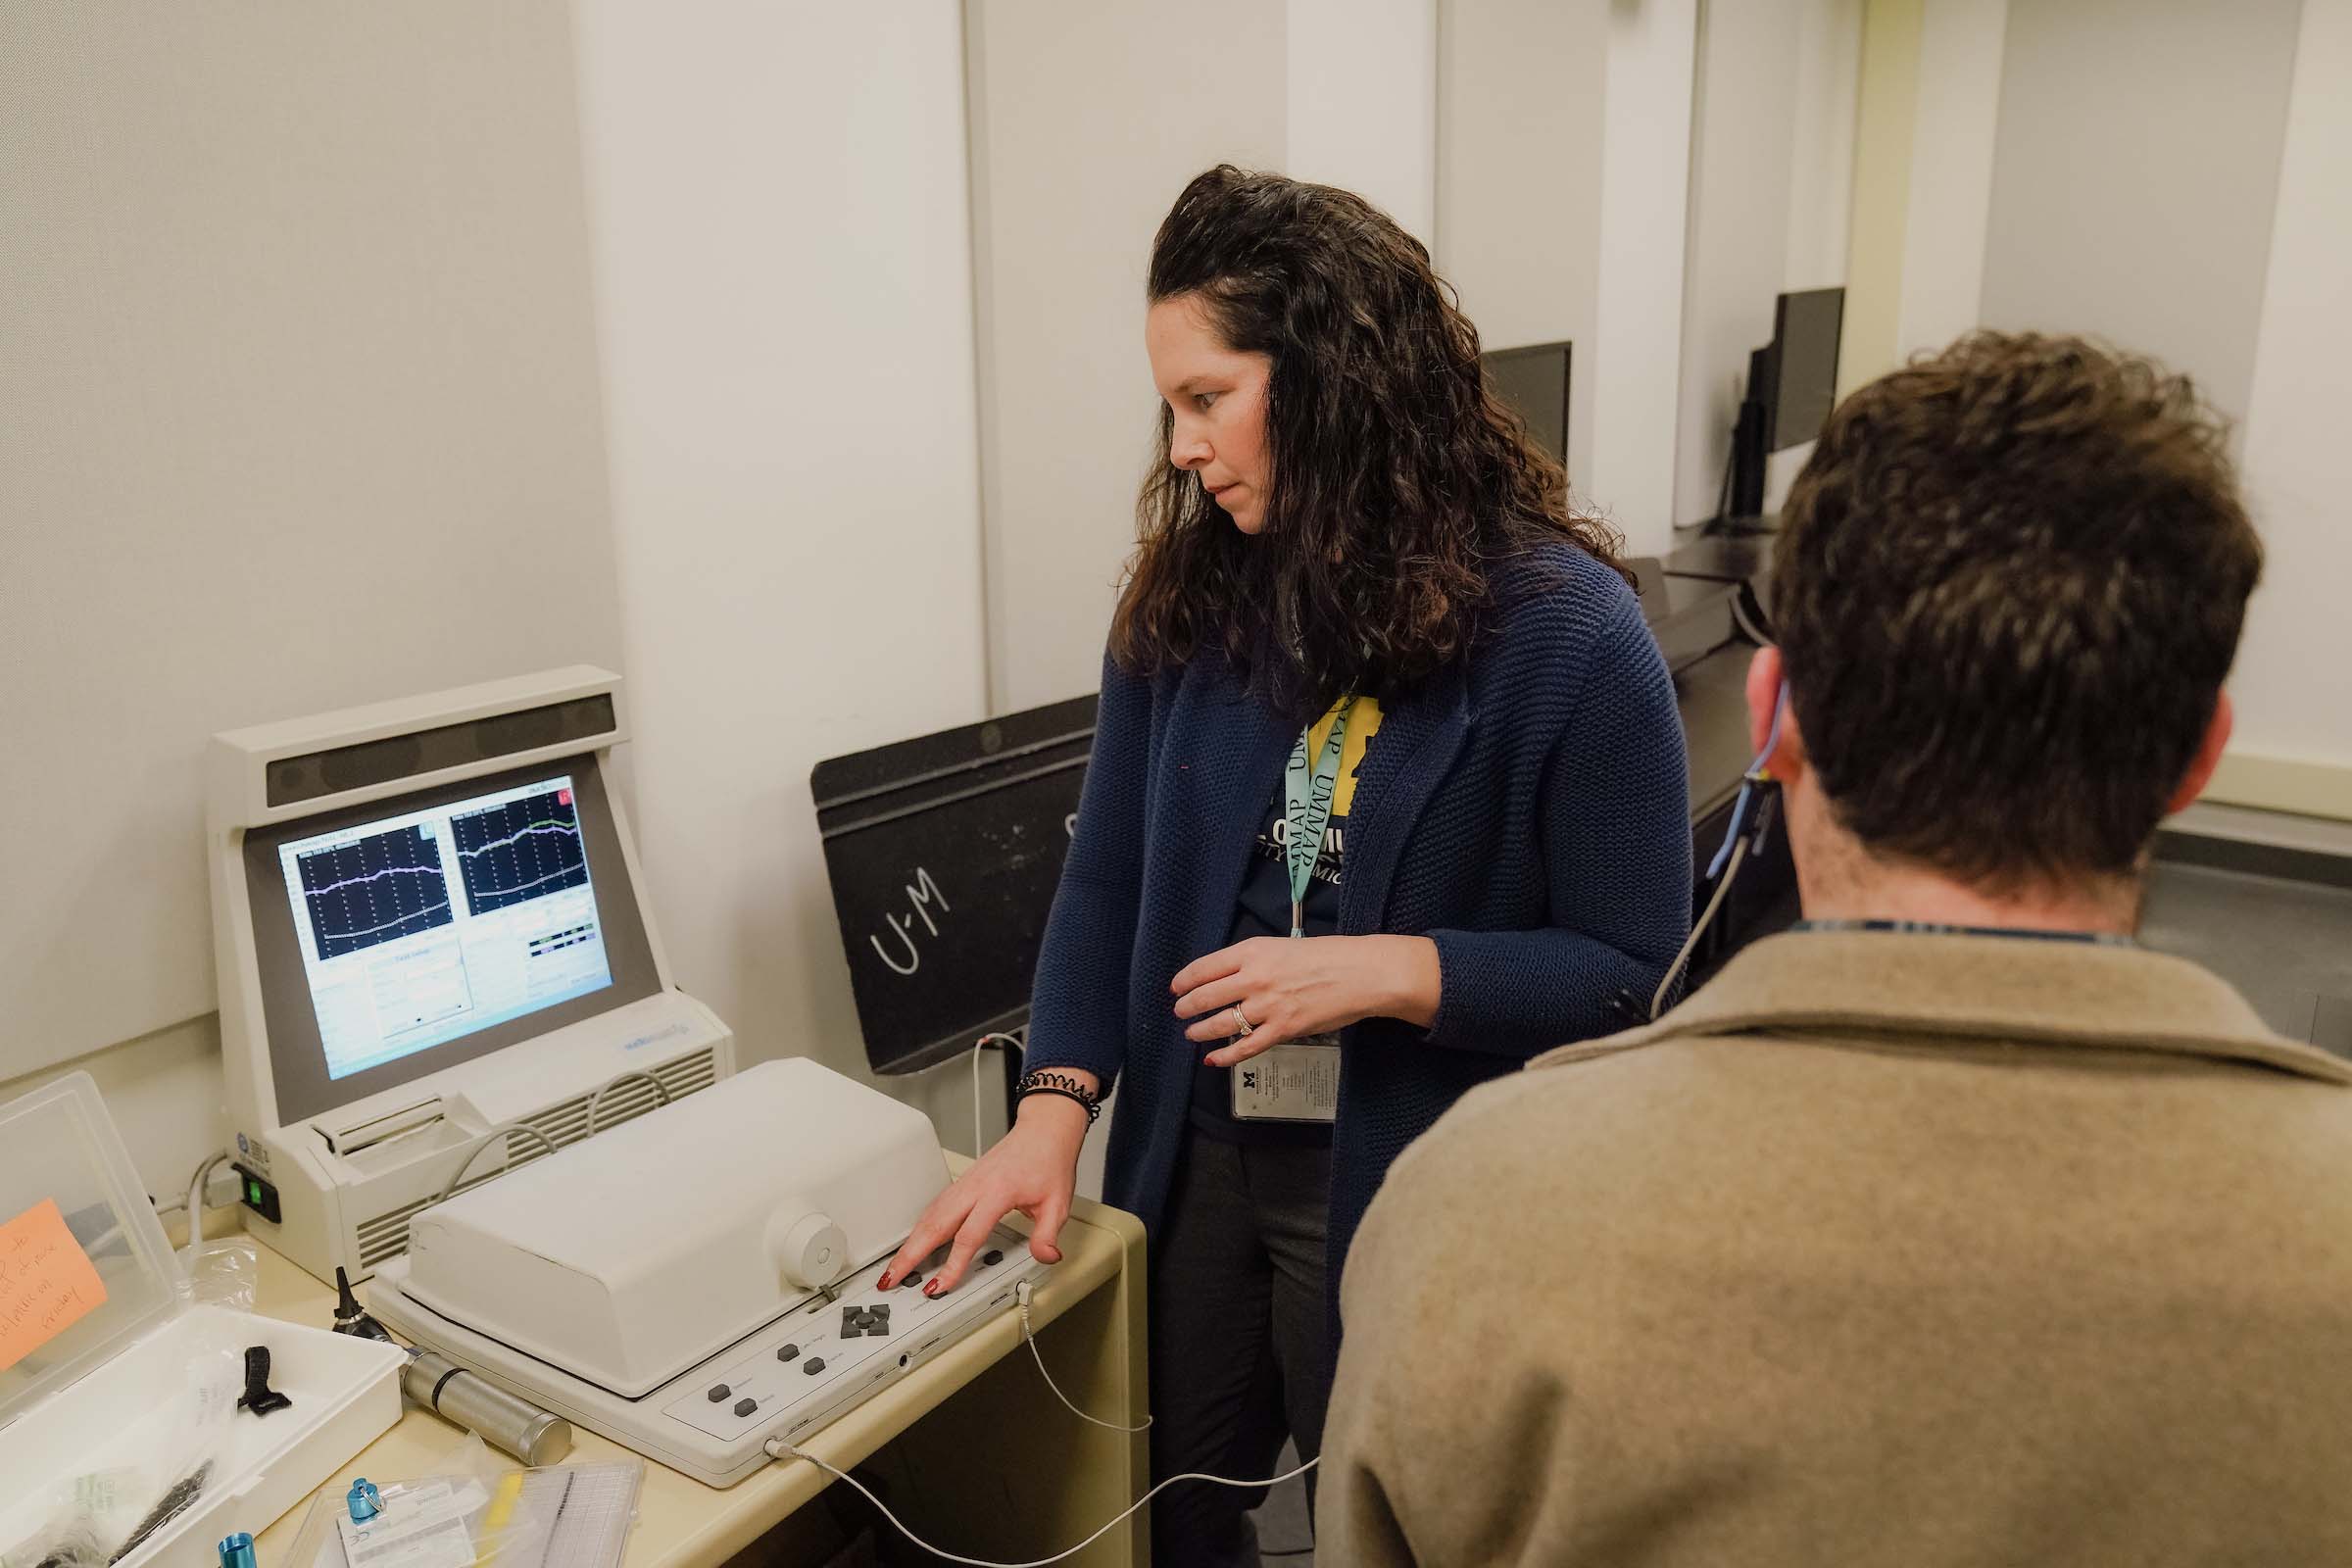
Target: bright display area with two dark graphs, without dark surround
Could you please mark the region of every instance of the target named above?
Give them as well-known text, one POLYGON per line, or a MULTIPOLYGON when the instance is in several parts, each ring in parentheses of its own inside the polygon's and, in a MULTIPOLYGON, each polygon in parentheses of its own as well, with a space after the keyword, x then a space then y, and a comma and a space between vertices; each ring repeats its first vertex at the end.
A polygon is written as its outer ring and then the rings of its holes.
POLYGON ((612 985, 569 776, 278 851, 327 1077, 612 985))

